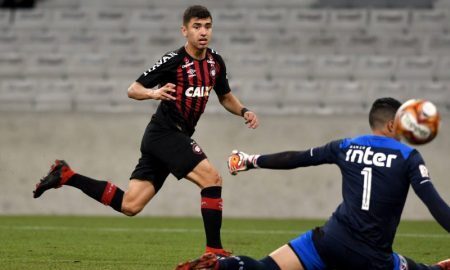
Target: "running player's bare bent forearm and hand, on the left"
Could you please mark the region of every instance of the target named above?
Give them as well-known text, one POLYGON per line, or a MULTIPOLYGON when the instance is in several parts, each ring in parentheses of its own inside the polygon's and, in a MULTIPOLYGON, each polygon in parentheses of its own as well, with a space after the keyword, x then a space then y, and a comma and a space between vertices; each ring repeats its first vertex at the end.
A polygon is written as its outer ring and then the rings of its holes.
POLYGON ((139 82, 133 82, 128 87, 128 97, 136 100, 175 100, 176 97, 171 95, 173 92, 176 92, 173 83, 167 83, 157 89, 146 88, 139 82))

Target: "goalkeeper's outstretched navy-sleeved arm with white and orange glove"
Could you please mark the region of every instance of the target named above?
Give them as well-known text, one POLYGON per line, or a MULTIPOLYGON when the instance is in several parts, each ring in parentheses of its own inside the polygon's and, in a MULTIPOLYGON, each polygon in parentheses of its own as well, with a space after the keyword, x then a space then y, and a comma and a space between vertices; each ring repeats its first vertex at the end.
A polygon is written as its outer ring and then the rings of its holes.
POLYGON ((290 170, 299 167, 335 163, 339 141, 306 151, 286 151, 268 155, 249 155, 234 150, 228 158, 231 174, 254 168, 290 170))

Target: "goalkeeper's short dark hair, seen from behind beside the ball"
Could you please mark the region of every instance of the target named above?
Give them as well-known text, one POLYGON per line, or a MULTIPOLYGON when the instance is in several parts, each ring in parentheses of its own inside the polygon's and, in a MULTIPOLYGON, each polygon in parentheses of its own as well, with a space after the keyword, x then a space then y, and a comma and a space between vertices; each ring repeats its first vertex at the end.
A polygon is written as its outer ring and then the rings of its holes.
POLYGON ((389 120, 394 119, 395 113, 402 104, 400 101, 385 97, 375 100, 369 112, 369 124, 372 129, 382 128, 389 120))

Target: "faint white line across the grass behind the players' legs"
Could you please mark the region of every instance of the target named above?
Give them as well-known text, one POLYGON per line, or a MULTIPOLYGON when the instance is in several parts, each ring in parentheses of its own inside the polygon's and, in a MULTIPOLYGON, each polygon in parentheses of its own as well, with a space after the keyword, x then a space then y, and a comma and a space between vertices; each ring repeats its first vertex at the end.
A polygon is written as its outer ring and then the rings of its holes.
MULTIPOLYGON (((68 226, 0 226, 0 229, 23 230, 23 231, 93 231, 93 232, 157 232, 157 233, 203 233, 201 229, 187 228, 131 228, 131 227, 103 227, 103 228, 80 228, 68 226)), ((300 235, 302 231, 294 230, 222 230, 223 233, 232 234, 291 234, 300 235)), ((397 233, 396 237, 406 238, 450 238, 450 234, 424 234, 424 233, 397 233)))

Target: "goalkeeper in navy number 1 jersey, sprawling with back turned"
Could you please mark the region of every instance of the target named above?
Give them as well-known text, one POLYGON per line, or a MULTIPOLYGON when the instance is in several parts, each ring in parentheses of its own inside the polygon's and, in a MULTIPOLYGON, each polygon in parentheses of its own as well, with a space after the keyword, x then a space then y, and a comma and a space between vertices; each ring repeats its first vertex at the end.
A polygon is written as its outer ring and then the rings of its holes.
POLYGON ((204 254, 177 269, 450 270, 449 259, 429 266, 392 251, 410 185, 438 223, 450 232, 450 208, 434 188, 420 153, 396 137, 394 116, 400 105, 392 98, 373 103, 369 113, 371 135, 332 141, 307 151, 270 155, 234 151, 229 159, 232 174, 255 168, 287 170, 336 164, 342 173, 343 202, 325 225, 300 235, 262 260, 246 256, 217 260, 212 254, 204 254))

